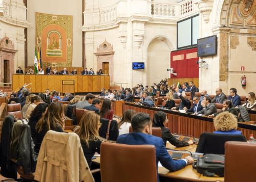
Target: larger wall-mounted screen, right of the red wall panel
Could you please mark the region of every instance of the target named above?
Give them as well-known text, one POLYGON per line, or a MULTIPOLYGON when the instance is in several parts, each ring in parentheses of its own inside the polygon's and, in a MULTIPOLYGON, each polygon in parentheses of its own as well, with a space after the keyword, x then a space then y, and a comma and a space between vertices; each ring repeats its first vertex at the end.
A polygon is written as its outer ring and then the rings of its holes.
POLYGON ((197 39, 197 57, 206 57, 217 54, 217 36, 197 39))

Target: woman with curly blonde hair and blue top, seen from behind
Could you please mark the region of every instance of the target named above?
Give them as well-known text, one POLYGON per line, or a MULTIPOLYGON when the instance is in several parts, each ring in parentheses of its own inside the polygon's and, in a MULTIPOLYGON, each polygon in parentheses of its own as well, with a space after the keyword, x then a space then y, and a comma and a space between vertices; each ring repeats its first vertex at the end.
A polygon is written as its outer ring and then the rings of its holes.
POLYGON ((214 118, 215 134, 242 135, 241 131, 237 131, 238 119, 229 112, 222 112, 214 118))

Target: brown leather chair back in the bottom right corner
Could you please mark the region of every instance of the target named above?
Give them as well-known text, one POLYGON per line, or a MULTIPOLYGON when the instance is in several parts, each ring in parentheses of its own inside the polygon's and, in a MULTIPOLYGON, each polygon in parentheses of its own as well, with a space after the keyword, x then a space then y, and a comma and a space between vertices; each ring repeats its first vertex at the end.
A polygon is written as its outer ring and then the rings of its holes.
POLYGON ((225 182, 255 181, 255 164, 255 143, 225 143, 225 182))

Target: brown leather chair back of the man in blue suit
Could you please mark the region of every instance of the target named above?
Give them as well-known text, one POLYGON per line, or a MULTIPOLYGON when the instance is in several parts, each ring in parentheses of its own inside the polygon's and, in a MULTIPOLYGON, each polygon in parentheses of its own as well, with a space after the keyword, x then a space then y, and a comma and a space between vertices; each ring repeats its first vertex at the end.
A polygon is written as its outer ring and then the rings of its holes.
POLYGON ((155 146, 104 142, 100 148, 100 171, 102 182, 157 182, 155 146))

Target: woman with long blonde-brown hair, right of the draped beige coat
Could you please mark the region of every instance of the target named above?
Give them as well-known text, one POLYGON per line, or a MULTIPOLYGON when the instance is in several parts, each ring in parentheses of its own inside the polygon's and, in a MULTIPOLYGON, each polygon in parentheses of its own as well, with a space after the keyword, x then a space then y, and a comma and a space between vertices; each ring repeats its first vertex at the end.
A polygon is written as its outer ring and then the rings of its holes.
POLYGON ((87 111, 80 120, 80 127, 76 134, 80 138, 84 157, 89 167, 92 166, 92 157, 95 152, 100 153, 101 140, 99 139, 99 115, 94 111, 87 111))

